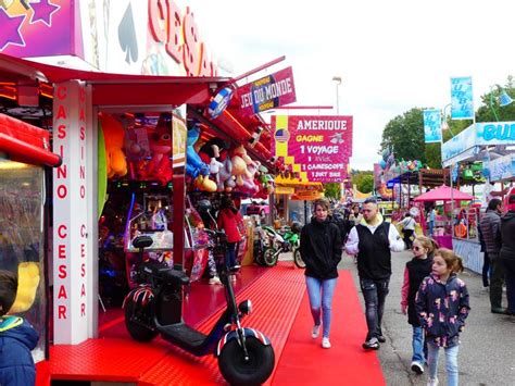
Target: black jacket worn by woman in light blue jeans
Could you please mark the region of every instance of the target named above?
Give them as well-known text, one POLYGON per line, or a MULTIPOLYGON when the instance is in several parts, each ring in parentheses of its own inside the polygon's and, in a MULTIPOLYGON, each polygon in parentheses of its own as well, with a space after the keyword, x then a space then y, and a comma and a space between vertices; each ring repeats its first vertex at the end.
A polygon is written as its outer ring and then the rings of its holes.
POLYGON ((319 279, 338 277, 341 248, 338 225, 330 219, 321 223, 312 217, 301 233, 300 252, 305 262, 305 275, 319 279))

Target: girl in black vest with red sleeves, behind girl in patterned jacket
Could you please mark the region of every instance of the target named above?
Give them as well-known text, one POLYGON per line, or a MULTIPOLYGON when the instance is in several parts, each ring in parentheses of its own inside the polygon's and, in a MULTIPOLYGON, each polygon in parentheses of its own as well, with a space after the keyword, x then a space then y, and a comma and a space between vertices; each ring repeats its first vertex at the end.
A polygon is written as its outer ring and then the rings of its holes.
POLYGON ((427 348, 424 345, 424 334, 415 311, 415 295, 424 277, 429 276, 432 269, 432 254, 436 242, 426 236, 417 236, 413 241, 413 259, 406 263, 404 283, 402 284, 401 310, 407 313, 407 323, 413 326, 413 357, 412 370, 424 373, 424 362, 427 348))

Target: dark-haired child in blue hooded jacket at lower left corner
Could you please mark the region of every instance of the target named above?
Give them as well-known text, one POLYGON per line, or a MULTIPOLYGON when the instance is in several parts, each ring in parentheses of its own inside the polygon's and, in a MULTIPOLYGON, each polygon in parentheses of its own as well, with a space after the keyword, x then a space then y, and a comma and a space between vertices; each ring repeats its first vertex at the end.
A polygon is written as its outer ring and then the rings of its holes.
POLYGON ((36 383, 30 351, 39 336, 23 317, 8 315, 17 290, 17 275, 0 270, 0 385, 29 386, 36 383))

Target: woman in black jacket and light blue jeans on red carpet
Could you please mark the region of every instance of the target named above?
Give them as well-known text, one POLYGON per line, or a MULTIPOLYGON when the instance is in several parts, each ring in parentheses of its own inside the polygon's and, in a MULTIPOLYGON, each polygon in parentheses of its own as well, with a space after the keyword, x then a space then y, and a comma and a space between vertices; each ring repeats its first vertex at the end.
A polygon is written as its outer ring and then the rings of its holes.
POLYGON ((318 337, 322 323, 323 348, 330 348, 332 295, 338 279, 337 266, 342 252, 340 229, 329 219, 328 212, 329 202, 326 199, 315 201, 315 215, 311 219, 311 223, 302 228, 300 244, 301 257, 305 262, 305 283, 314 322, 311 336, 313 339, 318 337))

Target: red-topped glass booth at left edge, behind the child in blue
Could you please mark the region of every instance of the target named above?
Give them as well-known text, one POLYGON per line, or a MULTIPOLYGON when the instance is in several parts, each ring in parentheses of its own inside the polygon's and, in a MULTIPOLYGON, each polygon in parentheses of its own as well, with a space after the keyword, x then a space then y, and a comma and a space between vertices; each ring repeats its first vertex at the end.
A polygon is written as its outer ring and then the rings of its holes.
MULTIPOLYGON (((7 78, 30 80, 26 74, 8 71, 0 64, 0 79, 7 78)), ((13 100, 18 99, 20 90, 15 87, 11 90, 13 100)), ((9 315, 26 319, 39 334, 33 350, 38 384, 50 382, 51 169, 48 166, 60 164, 61 158, 50 151, 48 130, 0 113, 0 269, 14 272, 18 277, 16 298, 9 315)))

